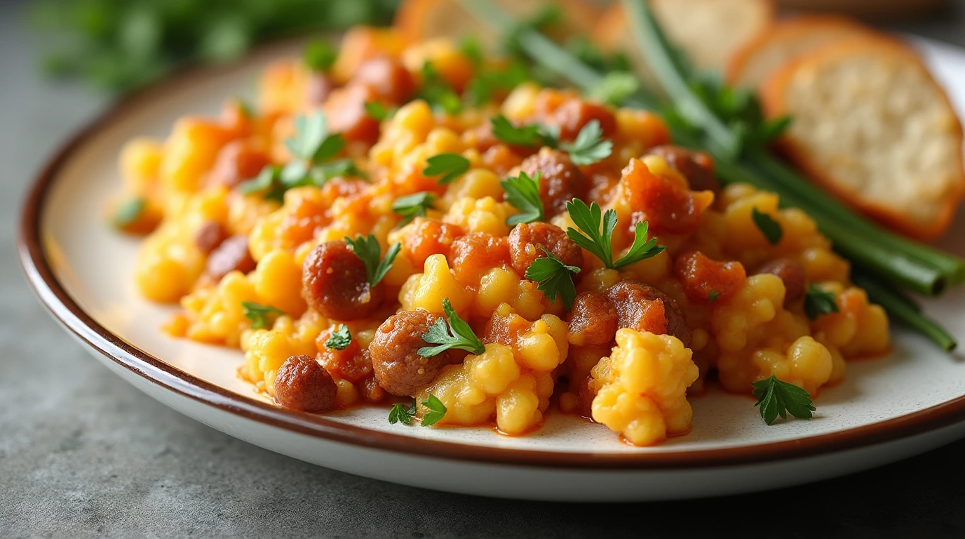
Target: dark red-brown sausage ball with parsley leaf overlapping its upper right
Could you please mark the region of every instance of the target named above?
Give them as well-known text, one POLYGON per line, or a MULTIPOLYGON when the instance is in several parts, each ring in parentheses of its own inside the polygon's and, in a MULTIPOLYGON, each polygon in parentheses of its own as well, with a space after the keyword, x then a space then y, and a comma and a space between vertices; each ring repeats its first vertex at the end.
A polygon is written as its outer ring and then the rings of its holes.
POLYGON ((381 284, 369 284, 365 264, 345 241, 327 241, 305 257, 302 294, 322 316, 342 322, 371 316, 385 298, 381 284))

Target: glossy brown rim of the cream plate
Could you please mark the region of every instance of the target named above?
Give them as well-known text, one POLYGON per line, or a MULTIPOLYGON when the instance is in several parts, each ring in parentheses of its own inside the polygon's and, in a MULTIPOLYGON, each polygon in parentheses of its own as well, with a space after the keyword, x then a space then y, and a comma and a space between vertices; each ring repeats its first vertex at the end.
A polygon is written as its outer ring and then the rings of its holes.
MULTIPOLYGON (((278 47, 271 47, 267 50, 278 47)), ((262 48, 261 53, 266 49, 262 48)), ((53 317, 76 337, 132 373, 169 391, 207 404, 245 419, 272 427, 344 442, 372 449, 476 463, 545 468, 711 468, 766 461, 814 457, 876 443, 900 440, 949 426, 965 419, 965 395, 922 411, 872 423, 841 432, 816 435, 799 440, 758 443, 724 449, 674 451, 661 453, 573 453, 480 447, 459 442, 414 439, 394 433, 373 431, 298 411, 289 411, 244 397, 213 383, 196 378, 153 355, 147 354, 100 326, 70 297, 54 276, 41 245, 41 213, 47 192, 57 181, 70 158, 96 133, 155 93, 184 84, 193 76, 220 68, 195 67, 132 95, 120 99, 95 120, 81 128, 41 168, 20 218, 17 250, 27 282, 53 317)), ((604 427, 600 427, 604 428, 604 427)), ((493 435, 497 436, 497 435, 493 435)), ((614 434, 614 443, 617 435, 614 434)), ((604 449, 604 448, 601 448, 604 449)))

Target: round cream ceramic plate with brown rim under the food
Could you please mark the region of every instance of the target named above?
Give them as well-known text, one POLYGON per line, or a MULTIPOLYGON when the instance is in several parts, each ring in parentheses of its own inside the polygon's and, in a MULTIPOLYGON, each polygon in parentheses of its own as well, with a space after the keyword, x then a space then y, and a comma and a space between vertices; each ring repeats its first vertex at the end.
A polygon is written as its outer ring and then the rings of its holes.
MULTIPOLYGON (((965 112, 965 52, 921 43, 965 112)), ((848 365, 823 390, 810 421, 766 426, 748 397, 719 390, 692 399, 693 431, 648 448, 608 429, 551 415, 520 438, 489 429, 390 425, 385 409, 311 415, 270 404, 235 377, 234 350, 158 331, 173 309, 139 298, 131 274, 137 241, 105 225, 119 187, 124 141, 162 137, 184 114, 215 114, 250 94, 266 62, 296 54, 262 49, 225 69, 187 71, 124 99, 78 133, 41 172, 25 202, 20 257, 53 316, 91 353, 153 398, 241 440, 328 468, 483 496, 646 500, 718 496, 815 481, 922 453, 965 436, 965 355, 945 355, 895 327, 894 353, 848 365)), ((965 254, 965 218, 942 246, 965 254)), ((965 289, 925 310, 965 341, 965 289)))

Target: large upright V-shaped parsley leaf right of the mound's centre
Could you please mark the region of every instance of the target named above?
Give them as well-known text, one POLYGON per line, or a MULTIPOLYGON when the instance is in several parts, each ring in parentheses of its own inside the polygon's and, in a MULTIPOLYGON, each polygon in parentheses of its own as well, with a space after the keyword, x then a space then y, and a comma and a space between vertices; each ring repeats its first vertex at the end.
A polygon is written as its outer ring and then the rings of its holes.
POLYGON ((588 207, 578 198, 566 203, 566 211, 576 225, 575 230, 566 229, 566 236, 577 245, 593 253, 593 256, 603 261, 603 265, 611 270, 620 270, 624 266, 636 264, 641 260, 654 257, 666 249, 657 245, 657 239, 647 240, 648 222, 638 222, 635 227, 633 244, 625 255, 617 262, 613 261, 613 229, 617 227, 617 212, 607 210, 603 213, 595 202, 588 207), (583 234, 580 234, 580 233, 583 234))

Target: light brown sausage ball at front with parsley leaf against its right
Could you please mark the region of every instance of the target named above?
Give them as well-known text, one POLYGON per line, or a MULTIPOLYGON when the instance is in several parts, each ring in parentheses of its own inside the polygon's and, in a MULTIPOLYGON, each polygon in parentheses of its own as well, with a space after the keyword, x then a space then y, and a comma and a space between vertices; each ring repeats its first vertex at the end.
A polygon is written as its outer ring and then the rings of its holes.
POLYGON ((418 353, 428 346, 422 336, 438 318, 423 309, 402 311, 378 326, 369 355, 375 380, 383 389, 400 397, 414 396, 450 362, 448 351, 432 357, 418 353))

